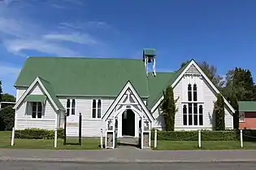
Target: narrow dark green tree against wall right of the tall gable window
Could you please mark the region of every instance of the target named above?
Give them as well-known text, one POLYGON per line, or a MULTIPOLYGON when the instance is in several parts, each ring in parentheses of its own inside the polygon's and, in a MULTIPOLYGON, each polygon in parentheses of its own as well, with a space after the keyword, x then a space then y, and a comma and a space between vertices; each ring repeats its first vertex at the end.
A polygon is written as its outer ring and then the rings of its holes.
POLYGON ((224 110, 223 96, 217 95, 217 101, 215 101, 214 117, 215 117, 215 130, 225 130, 225 110, 224 110))

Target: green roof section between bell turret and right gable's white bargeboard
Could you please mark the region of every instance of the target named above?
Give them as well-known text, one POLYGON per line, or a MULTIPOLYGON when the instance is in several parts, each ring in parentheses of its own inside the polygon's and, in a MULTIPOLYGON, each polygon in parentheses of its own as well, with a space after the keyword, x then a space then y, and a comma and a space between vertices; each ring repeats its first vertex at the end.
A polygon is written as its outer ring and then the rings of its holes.
POLYGON ((149 77, 150 98, 147 102, 148 108, 154 107, 154 104, 156 104, 156 102, 158 102, 158 100, 163 96, 163 91, 166 90, 168 85, 171 85, 175 82, 175 80, 180 76, 180 74, 189 65, 190 62, 180 67, 180 69, 175 72, 158 72, 156 73, 155 77, 149 77))

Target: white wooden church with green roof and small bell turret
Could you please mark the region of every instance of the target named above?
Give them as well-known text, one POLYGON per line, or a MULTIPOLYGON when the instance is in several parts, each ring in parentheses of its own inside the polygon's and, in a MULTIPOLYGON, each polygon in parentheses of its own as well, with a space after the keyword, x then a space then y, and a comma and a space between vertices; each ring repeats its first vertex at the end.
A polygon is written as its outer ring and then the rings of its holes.
MULTIPOLYGON (((168 85, 179 98, 175 130, 212 130, 219 91, 197 62, 156 72, 155 60, 154 49, 141 59, 28 57, 15 82, 15 130, 63 128, 67 113, 71 126, 82 115, 84 137, 112 128, 118 138, 138 138, 141 130, 165 129, 159 106, 168 85)), ((233 129, 234 109, 224 101, 226 129, 233 129)), ((76 126, 67 134, 77 135, 76 126)))

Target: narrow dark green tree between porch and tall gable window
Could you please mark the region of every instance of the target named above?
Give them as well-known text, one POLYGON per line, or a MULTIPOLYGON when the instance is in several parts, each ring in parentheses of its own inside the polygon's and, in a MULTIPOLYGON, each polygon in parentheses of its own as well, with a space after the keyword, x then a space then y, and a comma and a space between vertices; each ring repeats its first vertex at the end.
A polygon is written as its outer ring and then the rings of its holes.
POLYGON ((175 115, 178 111, 176 108, 177 100, 178 99, 174 99, 173 88, 169 85, 166 91, 163 91, 163 101, 161 104, 161 110, 167 131, 174 131, 175 115))

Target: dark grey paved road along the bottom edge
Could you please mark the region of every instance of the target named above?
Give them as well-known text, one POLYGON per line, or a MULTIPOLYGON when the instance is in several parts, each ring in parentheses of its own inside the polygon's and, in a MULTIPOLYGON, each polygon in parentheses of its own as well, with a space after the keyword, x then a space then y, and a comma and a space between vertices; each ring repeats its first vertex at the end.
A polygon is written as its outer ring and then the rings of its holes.
POLYGON ((1 169, 8 170, 77 170, 77 169, 89 169, 89 170, 254 170, 256 168, 255 163, 157 163, 157 164, 120 164, 120 163, 39 163, 39 162, 0 162, 1 169))

